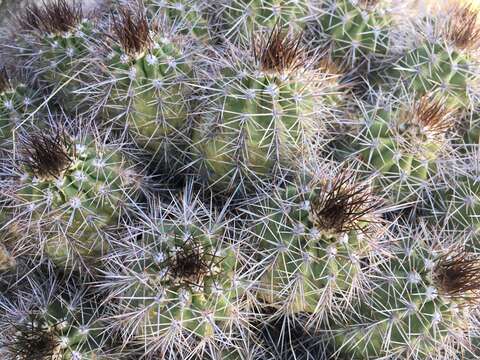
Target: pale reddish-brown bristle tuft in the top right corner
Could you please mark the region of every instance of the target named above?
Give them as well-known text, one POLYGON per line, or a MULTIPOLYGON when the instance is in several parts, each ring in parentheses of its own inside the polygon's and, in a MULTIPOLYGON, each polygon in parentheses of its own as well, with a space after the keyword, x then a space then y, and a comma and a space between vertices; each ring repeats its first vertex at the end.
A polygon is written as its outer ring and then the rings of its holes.
POLYGON ((446 26, 445 36, 459 49, 478 49, 480 45, 478 11, 471 5, 455 5, 446 26))

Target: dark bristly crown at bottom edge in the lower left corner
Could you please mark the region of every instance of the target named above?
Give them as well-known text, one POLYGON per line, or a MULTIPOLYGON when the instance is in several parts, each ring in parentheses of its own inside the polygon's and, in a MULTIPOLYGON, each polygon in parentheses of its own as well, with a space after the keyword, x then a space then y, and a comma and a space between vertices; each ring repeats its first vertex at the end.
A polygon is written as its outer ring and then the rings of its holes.
POLYGON ((8 344, 15 359, 53 359, 60 345, 58 336, 43 326, 41 319, 30 314, 26 323, 15 326, 15 340, 8 344))

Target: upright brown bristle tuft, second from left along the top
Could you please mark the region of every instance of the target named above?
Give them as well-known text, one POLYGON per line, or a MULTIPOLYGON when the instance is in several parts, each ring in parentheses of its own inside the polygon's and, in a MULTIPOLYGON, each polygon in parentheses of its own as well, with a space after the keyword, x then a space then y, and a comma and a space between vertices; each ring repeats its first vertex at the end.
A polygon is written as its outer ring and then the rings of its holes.
POLYGON ((121 7, 112 19, 113 33, 126 54, 140 54, 151 46, 150 28, 141 6, 135 10, 121 7))

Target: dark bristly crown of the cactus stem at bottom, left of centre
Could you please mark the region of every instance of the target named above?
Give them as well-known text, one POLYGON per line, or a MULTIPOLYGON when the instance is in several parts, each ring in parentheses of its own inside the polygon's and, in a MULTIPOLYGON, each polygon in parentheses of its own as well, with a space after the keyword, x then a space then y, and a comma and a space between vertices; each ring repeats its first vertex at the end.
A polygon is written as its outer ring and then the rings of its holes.
POLYGON ((221 261, 218 256, 207 253, 192 235, 166 260, 168 274, 175 281, 200 287, 203 278, 212 275, 221 261))

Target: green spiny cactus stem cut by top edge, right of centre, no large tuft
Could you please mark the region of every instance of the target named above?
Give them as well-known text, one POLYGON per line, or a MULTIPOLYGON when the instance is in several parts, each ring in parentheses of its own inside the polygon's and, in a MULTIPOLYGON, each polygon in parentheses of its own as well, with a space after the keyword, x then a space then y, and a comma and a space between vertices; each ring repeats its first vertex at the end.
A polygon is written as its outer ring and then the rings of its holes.
POLYGON ((389 48, 389 17, 368 2, 328 0, 310 21, 313 44, 330 47, 333 59, 347 68, 382 59, 389 48))

